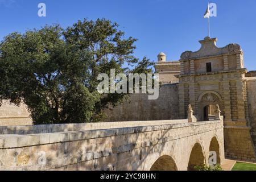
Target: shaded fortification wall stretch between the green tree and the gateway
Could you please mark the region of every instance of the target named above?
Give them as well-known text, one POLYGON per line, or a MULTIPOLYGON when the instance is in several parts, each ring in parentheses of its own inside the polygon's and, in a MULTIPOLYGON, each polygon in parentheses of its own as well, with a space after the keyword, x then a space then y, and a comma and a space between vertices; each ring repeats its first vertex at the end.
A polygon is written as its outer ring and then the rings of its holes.
POLYGON ((179 118, 177 84, 163 85, 158 100, 148 100, 147 94, 132 94, 129 101, 105 110, 106 121, 149 121, 179 118))

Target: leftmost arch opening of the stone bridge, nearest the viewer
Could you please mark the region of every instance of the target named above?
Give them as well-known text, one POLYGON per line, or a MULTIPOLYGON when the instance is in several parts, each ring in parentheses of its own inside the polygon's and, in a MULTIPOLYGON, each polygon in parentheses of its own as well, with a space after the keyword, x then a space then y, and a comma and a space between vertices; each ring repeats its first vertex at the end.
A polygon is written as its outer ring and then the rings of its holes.
POLYGON ((163 155, 150 168, 150 171, 177 171, 177 166, 169 155, 163 155))

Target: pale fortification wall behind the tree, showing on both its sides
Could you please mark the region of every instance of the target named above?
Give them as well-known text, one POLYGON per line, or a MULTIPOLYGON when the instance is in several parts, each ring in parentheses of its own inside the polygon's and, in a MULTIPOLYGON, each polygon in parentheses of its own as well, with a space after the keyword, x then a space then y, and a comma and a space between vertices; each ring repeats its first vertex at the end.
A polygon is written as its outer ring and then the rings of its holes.
MULTIPOLYGON (((158 100, 148 100, 147 94, 131 94, 129 100, 105 113, 105 122, 179 119, 177 84, 163 85, 158 100)), ((26 105, 18 107, 6 101, 0 107, 0 126, 14 125, 32 125, 32 119, 26 105)))

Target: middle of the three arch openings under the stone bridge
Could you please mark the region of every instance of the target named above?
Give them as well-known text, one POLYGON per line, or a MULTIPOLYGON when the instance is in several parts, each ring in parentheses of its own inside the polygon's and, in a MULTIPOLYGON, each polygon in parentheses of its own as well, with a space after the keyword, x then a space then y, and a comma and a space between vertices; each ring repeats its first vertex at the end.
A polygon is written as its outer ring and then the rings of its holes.
POLYGON ((205 166, 205 155, 200 143, 196 143, 189 155, 188 171, 195 171, 195 166, 205 166))

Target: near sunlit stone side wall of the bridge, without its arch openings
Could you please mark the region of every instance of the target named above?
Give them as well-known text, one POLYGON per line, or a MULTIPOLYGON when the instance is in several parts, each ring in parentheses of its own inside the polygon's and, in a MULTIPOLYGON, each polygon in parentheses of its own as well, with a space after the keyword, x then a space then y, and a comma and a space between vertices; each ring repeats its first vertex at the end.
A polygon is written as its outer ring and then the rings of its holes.
MULTIPOLYGON (((224 158, 222 120, 159 123, 0 135, 0 170, 149 170, 155 158, 167 153, 178 161, 177 169, 185 170, 193 145, 200 142, 205 147, 212 137, 218 138, 224 158)), ((205 156, 208 153, 204 151, 205 156)))

